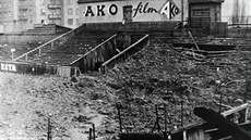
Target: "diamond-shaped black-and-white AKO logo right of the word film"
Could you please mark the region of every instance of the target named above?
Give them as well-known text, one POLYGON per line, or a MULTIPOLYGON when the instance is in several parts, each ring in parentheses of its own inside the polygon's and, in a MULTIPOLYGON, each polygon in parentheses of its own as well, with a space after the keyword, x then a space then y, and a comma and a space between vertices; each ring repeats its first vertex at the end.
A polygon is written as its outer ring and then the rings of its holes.
POLYGON ((179 13, 179 8, 172 1, 167 1, 160 10, 160 14, 166 15, 168 20, 171 20, 179 13))

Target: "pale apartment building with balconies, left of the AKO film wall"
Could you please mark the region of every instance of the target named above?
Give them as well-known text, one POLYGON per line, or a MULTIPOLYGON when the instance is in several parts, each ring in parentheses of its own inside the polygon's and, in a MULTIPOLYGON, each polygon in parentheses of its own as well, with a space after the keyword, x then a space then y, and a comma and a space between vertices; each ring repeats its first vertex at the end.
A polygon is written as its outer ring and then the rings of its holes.
MULTIPOLYGON (((20 33, 43 24, 77 27, 77 0, 1 0, 1 33, 20 33)), ((0 27, 0 29, 1 29, 0 27)))

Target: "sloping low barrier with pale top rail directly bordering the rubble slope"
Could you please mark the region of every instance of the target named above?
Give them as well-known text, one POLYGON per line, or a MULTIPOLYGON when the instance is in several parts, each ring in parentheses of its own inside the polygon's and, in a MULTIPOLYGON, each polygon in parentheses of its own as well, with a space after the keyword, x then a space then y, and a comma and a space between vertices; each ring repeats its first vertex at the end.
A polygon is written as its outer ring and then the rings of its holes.
POLYGON ((119 54, 112 56, 111 59, 103 63, 101 66, 99 67, 99 73, 105 74, 109 68, 112 68, 115 64, 119 62, 124 62, 129 56, 131 56, 132 54, 134 54, 135 52, 144 48, 147 41, 148 41, 148 35, 145 35, 135 43, 131 44, 130 47, 121 51, 119 54))

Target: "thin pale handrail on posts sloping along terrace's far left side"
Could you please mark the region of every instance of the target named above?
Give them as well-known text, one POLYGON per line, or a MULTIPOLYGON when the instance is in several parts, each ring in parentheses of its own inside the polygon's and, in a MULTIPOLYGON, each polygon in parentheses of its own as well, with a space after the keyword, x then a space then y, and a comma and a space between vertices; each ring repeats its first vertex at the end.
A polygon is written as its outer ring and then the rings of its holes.
POLYGON ((39 46, 39 47, 37 47, 37 48, 35 48, 35 49, 33 49, 33 50, 26 52, 26 53, 24 53, 24 54, 22 54, 22 55, 20 55, 20 56, 17 56, 17 58, 15 58, 13 61, 17 61, 19 59, 24 58, 24 56, 28 55, 29 53, 32 53, 32 52, 34 52, 34 51, 37 51, 37 50, 41 49, 43 47, 45 47, 45 46, 47 46, 47 44, 49 44, 49 43, 51 43, 51 42, 58 40, 59 38, 62 38, 63 36, 67 36, 67 35, 69 35, 69 34, 71 34, 71 33, 75 31, 76 29, 77 29, 77 28, 72 29, 72 30, 70 30, 70 31, 68 31, 68 33, 65 33, 65 34, 62 34, 62 35, 60 35, 60 36, 58 36, 58 37, 51 39, 50 41, 48 41, 48 42, 46 42, 46 43, 44 43, 44 44, 41 44, 41 46, 39 46))

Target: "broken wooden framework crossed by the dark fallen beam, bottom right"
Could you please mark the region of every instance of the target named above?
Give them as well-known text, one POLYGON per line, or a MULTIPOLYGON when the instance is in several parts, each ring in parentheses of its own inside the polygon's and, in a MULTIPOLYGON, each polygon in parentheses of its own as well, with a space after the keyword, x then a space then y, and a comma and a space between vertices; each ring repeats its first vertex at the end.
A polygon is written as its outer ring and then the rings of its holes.
MULTIPOLYGON (((248 112, 250 112, 249 111, 250 106, 251 106, 251 102, 248 102, 240 106, 232 107, 229 111, 223 112, 222 115, 224 118, 226 117, 226 119, 228 120, 234 120, 234 116, 236 114, 240 114, 239 118, 241 119, 239 119, 238 123, 237 122, 235 123, 237 123, 237 126, 251 132, 251 123, 248 119, 248 114, 249 114, 248 112)), ((217 128, 216 126, 212 126, 210 123, 206 123, 204 120, 199 120, 196 123, 187 125, 171 132, 171 140, 207 140, 207 139, 223 140, 228 137, 229 135, 223 133, 219 128, 217 128)), ((239 139, 235 139, 231 137, 229 140, 239 140, 239 139)))

